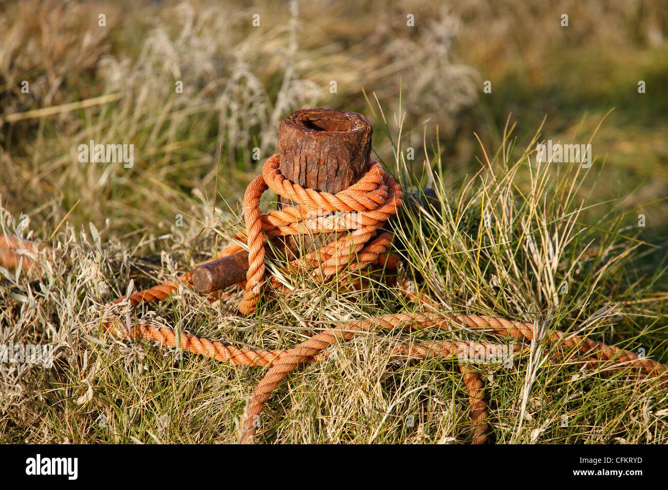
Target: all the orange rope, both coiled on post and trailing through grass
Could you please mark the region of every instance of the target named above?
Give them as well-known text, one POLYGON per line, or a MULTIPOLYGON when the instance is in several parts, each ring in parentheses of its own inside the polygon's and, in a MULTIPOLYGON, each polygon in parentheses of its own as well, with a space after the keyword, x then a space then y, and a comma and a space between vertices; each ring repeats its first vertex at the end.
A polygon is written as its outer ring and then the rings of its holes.
MULTIPOLYGON (((238 234, 237 240, 246 241, 249 248, 249 268, 246 282, 242 284, 246 293, 239 309, 242 313, 252 312, 261 294, 265 280, 265 236, 285 236, 313 232, 349 232, 343 238, 326 244, 315 252, 291 262, 291 270, 307 271, 315 278, 329 280, 343 270, 353 271, 369 266, 369 264, 385 264, 386 268, 396 266, 394 254, 387 254, 391 246, 391 235, 378 233, 383 223, 397 212, 401 206, 403 192, 395 180, 385 173, 377 162, 371 162, 369 172, 350 188, 337 194, 316 192, 289 182, 278 172, 278 155, 274 155, 263 168, 263 174, 248 185, 244 194, 244 222, 246 231, 238 234), (259 212, 259 200, 262 193, 271 188, 277 194, 297 202, 297 206, 272 211, 269 214, 259 212), (337 214, 331 215, 332 212, 337 214), (341 213, 341 214, 339 214, 341 213), (352 230, 352 231, 351 231, 352 230)), ((8 262, 15 259, 11 251, 19 247, 17 241, 0 240, 0 262, 9 257, 8 262), (9 250, 3 252, 2 248, 9 250)), ((20 245, 23 246, 23 245, 20 245)), ((226 256, 242 250, 232 242, 218 256, 226 256)), ((170 294, 177 292, 180 284, 192 284, 191 273, 179 278, 180 282, 165 282, 147 290, 114 300, 112 304, 128 302, 134 307, 142 302, 158 302, 170 294)), ((278 284, 278 283, 277 283, 278 284)), ((327 346, 339 340, 348 340, 360 332, 376 332, 393 330, 394 328, 451 328, 452 323, 468 328, 494 330, 496 334, 506 338, 531 340, 534 338, 534 325, 525 322, 506 320, 487 315, 460 314, 455 312, 436 312, 434 303, 424 296, 415 296, 408 282, 401 282, 399 287, 406 296, 417 300, 431 310, 430 313, 393 314, 354 320, 320 332, 295 348, 287 350, 253 350, 236 348, 220 342, 211 342, 182 332, 180 336, 172 328, 137 323, 125 328, 116 320, 103 320, 102 325, 107 332, 156 340, 167 346, 180 346, 184 350, 216 358, 232 364, 248 366, 269 366, 267 374, 251 395, 244 419, 240 424, 240 442, 253 442, 259 414, 271 393, 279 383, 298 366, 309 364, 319 358, 327 346)), ((210 294, 209 300, 217 299, 217 294, 210 294)), ((615 346, 607 346, 602 342, 576 334, 565 334, 558 330, 548 332, 546 338, 553 344, 572 348, 591 362, 606 362, 611 359, 620 360, 619 369, 633 366, 646 375, 668 377, 667 367, 647 358, 639 358, 633 352, 615 346)), ((395 345, 391 354, 426 358, 428 356, 472 357, 475 354, 490 356, 498 354, 501 348, 488 342, 426 342, 423 344, 395 345)), ((486 441, 487 413, 483 399, 480 375, 468 366, 460 364, 460 372, 468 391, 471 406, 470 417, 474 427, 473 442, 486 441)))

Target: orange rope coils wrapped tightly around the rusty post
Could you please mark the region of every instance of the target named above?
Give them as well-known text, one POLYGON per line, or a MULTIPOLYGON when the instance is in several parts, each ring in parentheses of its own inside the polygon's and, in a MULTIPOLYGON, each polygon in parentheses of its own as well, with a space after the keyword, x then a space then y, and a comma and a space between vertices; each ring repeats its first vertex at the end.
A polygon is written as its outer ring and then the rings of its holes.
MULTIPOLYGON (((318 269, 317 276, 328 280, 353 263, 355 269, 364 268, 387 252, 391 236, 381 234, 374 238, 403 203, 401 186, 375 160, 369 162, 369 170, 359 181, 337 194, 303 188, 291 182, 279 172, 279 162, 279 154, 269 157, 262 174, 253 179, 244 194, 246 230, 244 237, 237 237, 245 238, 248 243, 246 294, 239 305, 242 314, 255 310, 265 282, 267 236, 349 231, 291 262, 297 270, 318 269), (260 198, 268 188, 297 206, 261 214, 260 198)), ((222 255, 234 253, 236 247, 230 247, 222 255)))

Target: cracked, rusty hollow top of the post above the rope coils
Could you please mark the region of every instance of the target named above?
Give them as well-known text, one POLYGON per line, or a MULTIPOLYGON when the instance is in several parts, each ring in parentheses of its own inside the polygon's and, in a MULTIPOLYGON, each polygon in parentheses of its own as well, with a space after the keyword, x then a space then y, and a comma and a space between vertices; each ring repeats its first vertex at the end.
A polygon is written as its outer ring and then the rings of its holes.
POLYGON ((367 172, 372 134, 357 112, 299 109, 279 126, 279 170, 305 188, 335 194, 367 172))

